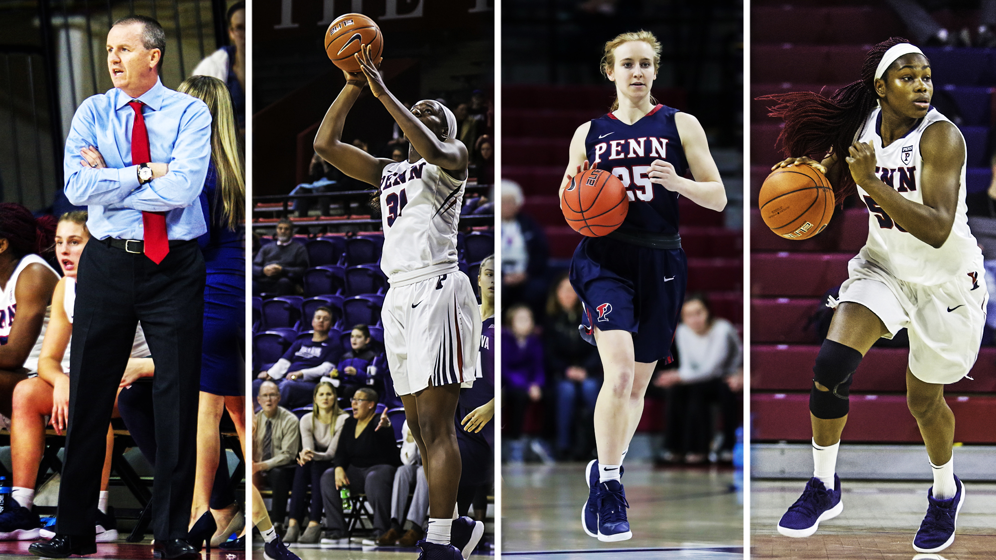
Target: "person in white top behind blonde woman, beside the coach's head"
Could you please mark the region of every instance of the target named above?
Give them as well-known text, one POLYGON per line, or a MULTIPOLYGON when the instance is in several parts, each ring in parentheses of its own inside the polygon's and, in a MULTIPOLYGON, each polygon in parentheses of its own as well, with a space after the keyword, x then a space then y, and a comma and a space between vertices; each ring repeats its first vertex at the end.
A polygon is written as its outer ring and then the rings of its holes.
POLYGON ((191 76, 213 76, 225 83, 232 95, 232 109, 242 138, 246 129, 246 3, 236 2, 228 8, 228 40, 222 47, 200 61, 191 76))

